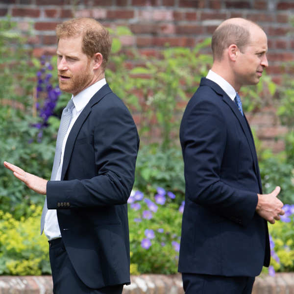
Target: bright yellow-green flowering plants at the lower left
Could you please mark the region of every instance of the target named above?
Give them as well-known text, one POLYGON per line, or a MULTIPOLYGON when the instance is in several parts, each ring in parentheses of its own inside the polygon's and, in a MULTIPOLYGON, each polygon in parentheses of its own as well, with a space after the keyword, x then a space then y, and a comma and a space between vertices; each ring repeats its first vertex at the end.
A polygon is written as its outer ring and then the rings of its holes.
POLYGON ((31 206, 31 216, 19 221, 0 211, 0 274, 51 273, 48 241, 40 236, 42 207, 31 206))

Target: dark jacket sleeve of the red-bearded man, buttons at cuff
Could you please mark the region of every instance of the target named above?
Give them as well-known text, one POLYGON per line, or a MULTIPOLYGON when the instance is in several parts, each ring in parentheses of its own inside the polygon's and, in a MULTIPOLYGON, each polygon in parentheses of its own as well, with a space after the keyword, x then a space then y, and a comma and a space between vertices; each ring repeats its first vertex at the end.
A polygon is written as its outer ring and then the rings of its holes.
MULTIPOLYGON (((90 115, 95 121, 93 161, 96 174, 88 179, 81 175, 81 179, 49 181, 49 209, 93 208, 127 202, 134 183, 139 146, 137 128, 123 103, 107 107, 102 114, 96 113, 94 106, 90 115), (69 205, 58 207, 60 201, 69 205)), ((83 164, 93 165, 93 162, 83 164)))

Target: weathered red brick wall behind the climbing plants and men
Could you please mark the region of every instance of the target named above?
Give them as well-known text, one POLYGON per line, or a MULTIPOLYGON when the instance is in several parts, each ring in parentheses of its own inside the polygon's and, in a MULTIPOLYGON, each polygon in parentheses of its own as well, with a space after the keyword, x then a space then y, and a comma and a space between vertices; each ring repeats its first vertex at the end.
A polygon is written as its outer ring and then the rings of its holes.
MULTIPOLYGON (((294 60, 293 13, 293 0, 0 0, 0 19, 12 16, 24 33, 32 27, 29 43, 36 56, 55 52, 54 28, 72 17, 94 17, 106 26, 127 25, 134 36, 123 38, 124 45, 147 55, 155 55, 166 43, 193 47, 210 37, 222 20, 244 17, 257 22, 268 34, 267 72, 277 82, 283 73, 293 73, 293 68, 282 65, 294 60)), ((262 138, 265 145, 278 151, 284 146, 271 134, 280 128, 272 119, 275 110, 267 109, 263 115, 265 120, 254 126, 260 134, 267 134, 262 138)))

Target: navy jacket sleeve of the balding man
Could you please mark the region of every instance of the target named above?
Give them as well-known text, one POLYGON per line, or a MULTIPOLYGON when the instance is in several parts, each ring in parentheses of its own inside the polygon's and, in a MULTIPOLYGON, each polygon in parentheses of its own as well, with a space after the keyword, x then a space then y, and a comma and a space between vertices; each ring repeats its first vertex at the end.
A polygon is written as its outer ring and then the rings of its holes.
POLYGON ((257 193, 233 187, 221 179, 227 127, 221 110, 207 100, 194 104, 184 116, 180 139, 186 193, 191 201, 246 225, 253 218, 257 193))

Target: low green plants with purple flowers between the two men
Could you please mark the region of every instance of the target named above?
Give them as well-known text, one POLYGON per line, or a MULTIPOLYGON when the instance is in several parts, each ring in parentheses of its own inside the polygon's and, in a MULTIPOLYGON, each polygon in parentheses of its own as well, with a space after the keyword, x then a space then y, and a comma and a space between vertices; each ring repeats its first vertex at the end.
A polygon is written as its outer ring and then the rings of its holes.
POLYGON ((182 214, 178 211, 176 199, 166 198, 164 205, 155 204, 154 193, 148 193, 144 199, 129 204, 131 262, 137 265, 140 273, 177 272, 182 214), (152 201, 153 211, 146 199, 152 201), (140 204, 141 208, 132 208, 134 203, 140 204), (156 212, 154 205, 157 205, 156 212), (144 218, 144 211, 149 211, 152 218, 144 218), (152 230, 154 238, 148 239, 146 230, 152 230), (146 239, 151 243, 148 248, 142 244, 146 239))

